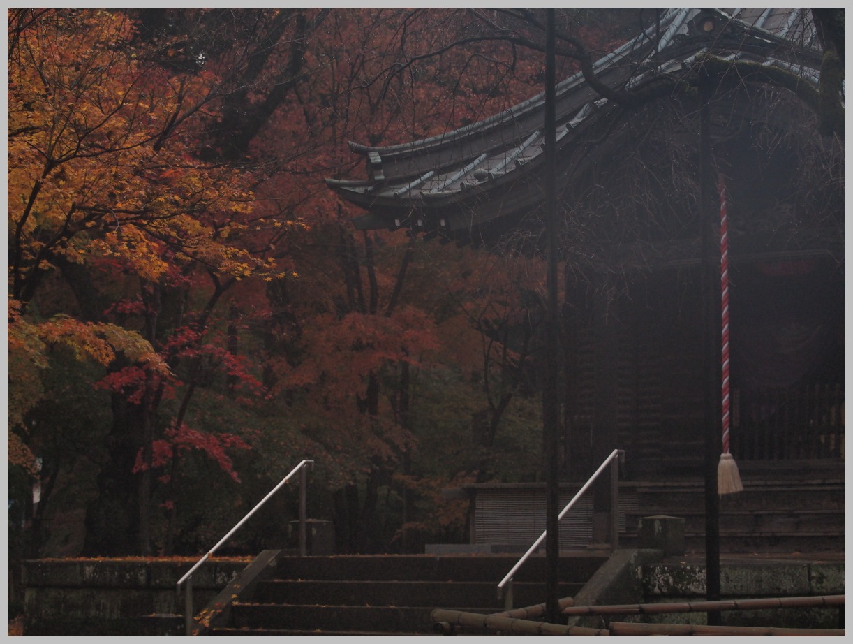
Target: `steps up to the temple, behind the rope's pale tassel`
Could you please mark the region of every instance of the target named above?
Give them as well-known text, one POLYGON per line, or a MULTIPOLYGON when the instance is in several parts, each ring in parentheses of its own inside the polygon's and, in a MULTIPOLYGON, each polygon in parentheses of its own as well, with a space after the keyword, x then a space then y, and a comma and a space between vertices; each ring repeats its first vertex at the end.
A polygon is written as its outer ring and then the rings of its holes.
MULTIPOLYGON (((844 552, 844 462, 739 464, 744 490, 720 498, 722 553, 844 552)), ((700 478, 639 482, 625 517, 623 547, 636 543, 641 517, 684 519, 685 548, 705 550, 705 484, 700 478)))

